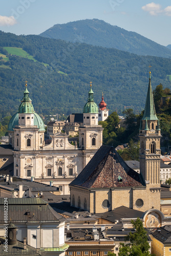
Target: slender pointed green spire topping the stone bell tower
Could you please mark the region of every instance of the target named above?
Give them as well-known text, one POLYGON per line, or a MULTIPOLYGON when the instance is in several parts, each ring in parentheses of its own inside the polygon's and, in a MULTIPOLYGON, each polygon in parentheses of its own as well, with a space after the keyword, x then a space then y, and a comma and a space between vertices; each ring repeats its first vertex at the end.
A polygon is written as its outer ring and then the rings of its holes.
POLYGON ((142 120, 158 120, 156 116, 155 104, 153 99, 153 91, 152 91, 152 84, 151 84, 151 72, 149 71, 149 84, 148 84, 148 91, 146 96, 145 102, 145 109, 144 115, 142 120))

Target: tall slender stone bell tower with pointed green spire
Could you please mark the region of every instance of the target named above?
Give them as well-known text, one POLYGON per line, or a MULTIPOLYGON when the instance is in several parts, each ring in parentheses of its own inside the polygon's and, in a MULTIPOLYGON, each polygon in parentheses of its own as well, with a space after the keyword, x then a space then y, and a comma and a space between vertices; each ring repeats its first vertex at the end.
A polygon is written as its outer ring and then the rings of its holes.
POLYGON ((160 187, 160 138, 159 119, 155 111, 151 72, 146 96, 144 115, 140 123, 140 173, 149 188, 160 187))

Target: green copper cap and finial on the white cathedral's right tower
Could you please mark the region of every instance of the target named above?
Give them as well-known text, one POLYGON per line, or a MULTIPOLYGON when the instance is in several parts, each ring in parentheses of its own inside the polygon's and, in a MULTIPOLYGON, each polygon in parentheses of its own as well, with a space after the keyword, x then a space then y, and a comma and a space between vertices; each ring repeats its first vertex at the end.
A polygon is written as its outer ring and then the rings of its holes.
POLYGON ((93 97, 93 90, 92 90, 92 84, 91 84, 91 88, 89 91, 89 97, 88 97, 88 102, 84 105, 83 108, 83 113, 98 113, 98 106, 97 104, 94 102, 94 97, 93 97))

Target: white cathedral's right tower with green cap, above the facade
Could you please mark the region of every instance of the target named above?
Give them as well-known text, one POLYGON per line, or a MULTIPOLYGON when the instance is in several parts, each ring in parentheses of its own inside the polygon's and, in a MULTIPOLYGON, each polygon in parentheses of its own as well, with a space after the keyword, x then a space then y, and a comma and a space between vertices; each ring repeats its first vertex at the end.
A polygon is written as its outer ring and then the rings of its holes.
POLYGON ((88 102, 83 108, 83 125, 79 127, 79 147, 83 150, 97 151, 102 145, 103 128, 98 125, 98 106, 94 102, 92 82, 90 87, 88 102))

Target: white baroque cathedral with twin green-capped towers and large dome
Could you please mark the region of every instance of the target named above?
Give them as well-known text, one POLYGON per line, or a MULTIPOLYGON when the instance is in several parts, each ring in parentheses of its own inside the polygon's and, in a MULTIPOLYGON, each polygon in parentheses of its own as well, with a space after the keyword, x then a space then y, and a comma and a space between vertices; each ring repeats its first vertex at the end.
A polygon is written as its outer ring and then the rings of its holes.
POLYGON ((14 176, 58 186, 61 195, 68 195, 69 183, 77 177, 102 145, 103 128, 98 125, 98 106, 94 102, 92 83, 83 108, 83 123, 79 127, 79 145, 68 141, 61 130, 44 141, 45 126, 34 112, 29 91, 8 126, 9 144, 13 147, 14 176))

